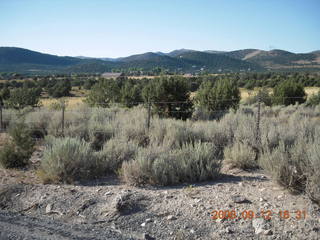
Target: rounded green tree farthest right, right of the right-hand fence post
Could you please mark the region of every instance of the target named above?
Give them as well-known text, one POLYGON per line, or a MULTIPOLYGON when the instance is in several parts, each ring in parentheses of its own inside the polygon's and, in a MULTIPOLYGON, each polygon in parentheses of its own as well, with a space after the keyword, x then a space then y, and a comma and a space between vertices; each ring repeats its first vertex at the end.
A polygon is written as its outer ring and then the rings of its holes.
POLYGON ((291 105, 304 103, 306 101, 306 93, 301 84, 293 80, 286 80, 277 84, 273 90, 273 103, 275 105, 291 105))

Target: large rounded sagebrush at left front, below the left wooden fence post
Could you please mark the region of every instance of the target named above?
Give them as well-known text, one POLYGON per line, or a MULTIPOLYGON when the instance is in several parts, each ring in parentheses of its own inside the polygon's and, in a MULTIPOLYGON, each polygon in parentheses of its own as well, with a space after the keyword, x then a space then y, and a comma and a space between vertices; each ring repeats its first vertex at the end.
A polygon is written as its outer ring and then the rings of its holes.
POLYGON ((40 166, 45 182, 71 183, 95 176, 96 155, 90 144, 77 138, 46 138, 40 166))

